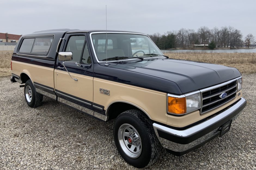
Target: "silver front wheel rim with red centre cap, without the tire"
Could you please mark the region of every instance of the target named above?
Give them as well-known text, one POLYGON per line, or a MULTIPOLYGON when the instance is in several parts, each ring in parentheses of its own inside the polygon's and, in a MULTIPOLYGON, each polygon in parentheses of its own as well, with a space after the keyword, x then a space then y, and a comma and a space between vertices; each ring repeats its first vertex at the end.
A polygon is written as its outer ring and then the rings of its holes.
POLYGON ((141 155, 141 137, 132 125, 125 123, 119 127, 118 141, 124 153, 130 158, 135 159, 141 155))

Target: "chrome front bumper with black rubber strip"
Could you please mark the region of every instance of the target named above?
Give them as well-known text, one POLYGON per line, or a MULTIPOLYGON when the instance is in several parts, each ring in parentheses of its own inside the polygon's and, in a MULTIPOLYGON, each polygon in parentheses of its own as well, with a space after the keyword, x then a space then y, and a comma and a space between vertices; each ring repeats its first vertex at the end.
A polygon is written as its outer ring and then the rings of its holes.
POLYGON ((153 123, 153 127, 162 146, 170 153, 181 156, 220 136, 221 126, 234 120, 245 106, 246 100, 241 98, 217 116, 185 130, 172 129, 157 123, 153 123))

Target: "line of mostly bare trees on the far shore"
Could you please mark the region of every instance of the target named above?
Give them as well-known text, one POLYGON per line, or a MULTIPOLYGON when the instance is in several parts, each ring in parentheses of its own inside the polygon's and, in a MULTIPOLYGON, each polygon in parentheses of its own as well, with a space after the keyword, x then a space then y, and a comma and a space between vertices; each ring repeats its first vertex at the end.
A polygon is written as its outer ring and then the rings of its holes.
POLYGON ((256 44, 252 34, 243 37, 240 30, 231 26, 220 29, 218 27, 209 29, 202 26, 197 31, 181 28, 178 31, 167 31, 163 35, 154 33, 149 37, 160 49, 189 48, 191 45, 203 44, 205 46, 210 43, 219 48, 241 48, 244 46, 249 48, 252 44, 256 44))

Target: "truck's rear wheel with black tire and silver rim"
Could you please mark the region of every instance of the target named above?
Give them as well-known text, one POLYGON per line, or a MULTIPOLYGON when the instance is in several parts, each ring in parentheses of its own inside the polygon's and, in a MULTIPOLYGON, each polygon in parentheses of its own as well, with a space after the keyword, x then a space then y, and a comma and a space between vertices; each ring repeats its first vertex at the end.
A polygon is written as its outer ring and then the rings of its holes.
POLYGON ((24 86, 25 100, 29 107, 38 107, 42 104, 43 95, 36 92, 36 88, 31 80, 26 81, 24 86))

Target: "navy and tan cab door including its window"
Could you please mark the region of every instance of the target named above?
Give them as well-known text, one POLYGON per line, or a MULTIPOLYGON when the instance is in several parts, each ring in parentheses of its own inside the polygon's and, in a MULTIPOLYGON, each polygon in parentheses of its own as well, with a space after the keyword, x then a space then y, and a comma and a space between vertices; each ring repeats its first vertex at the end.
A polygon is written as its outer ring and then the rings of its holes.
POLYGON ((86 41, 86 34, 67 34, 62 52, 72 52, 73 59, 57 60, 54 76, 58 101, 93 115, 93 62, 86 41))

